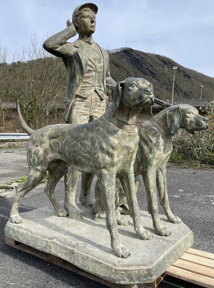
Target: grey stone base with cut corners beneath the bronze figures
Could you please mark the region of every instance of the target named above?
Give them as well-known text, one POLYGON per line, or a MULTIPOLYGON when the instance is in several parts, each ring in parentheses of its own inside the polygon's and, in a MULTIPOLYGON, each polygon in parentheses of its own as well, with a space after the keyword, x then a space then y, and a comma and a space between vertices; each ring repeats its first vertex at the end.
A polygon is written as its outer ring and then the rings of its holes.
POLYGON ((50 206, 21 214, 20 224, 7 222, 5 236, 40 251, 58 256, 73 265, 111 283, 138 284, 153 282, 193 244, 193 233, 184 224, 173 224, 160 215, 164 226, 172 231, 159 236, 152 227, 151 216, 142 213, 143 226, 152 240, 140 239, 130 216, 128 226, 119 226, 123 244, 131 257, 115 256, 105 222, 95 222, 91 209, 78 204, 84 217, 58 217, 50 206))

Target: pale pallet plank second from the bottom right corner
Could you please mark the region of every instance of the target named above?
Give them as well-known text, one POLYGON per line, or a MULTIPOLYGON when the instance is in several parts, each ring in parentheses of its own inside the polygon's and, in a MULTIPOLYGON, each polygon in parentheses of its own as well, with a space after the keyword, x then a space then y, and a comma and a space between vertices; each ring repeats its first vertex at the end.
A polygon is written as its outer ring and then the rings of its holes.
POLYGON ((186 271, 190 271, 199 275, 214 278, 214 269, 199 265, 196 263, 188 262, 185 260, 178 259, 173 263, 173 267, 177 267, 186 271))

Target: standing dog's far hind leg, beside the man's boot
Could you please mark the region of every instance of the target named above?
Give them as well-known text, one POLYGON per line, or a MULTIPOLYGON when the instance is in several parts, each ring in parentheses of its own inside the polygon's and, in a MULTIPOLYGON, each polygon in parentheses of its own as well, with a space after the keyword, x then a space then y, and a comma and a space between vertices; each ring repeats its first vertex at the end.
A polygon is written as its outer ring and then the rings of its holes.
POLYGON ((67 216, 68 212, 60 207, 59 202, 55 197, 55 187, 60 179, 65 174, 65 167, 59 164, 51 164, 48 167, 48 183, 45 187, 45 193, 47 194, 49 200, 51 201, 52 205, 54 206, 55 211, 57 212, 58 216, 67 216))

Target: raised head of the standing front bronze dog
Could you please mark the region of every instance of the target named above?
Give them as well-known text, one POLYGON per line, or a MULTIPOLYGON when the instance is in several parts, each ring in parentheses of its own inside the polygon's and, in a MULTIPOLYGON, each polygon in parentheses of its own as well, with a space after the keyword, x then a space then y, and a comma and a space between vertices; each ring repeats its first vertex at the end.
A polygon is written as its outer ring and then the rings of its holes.
POLYGON ((129 77, 119 82, 113 91, 114 106, 142 109, 154 104, 152 84, 143 78, 129 77))

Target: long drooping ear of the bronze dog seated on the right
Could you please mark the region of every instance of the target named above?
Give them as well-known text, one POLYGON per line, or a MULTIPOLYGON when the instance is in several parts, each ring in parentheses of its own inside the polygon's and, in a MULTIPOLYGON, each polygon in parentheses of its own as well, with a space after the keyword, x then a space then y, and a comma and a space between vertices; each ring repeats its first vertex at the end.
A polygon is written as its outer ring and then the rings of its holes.
POLYGON ((181 125, 180 105, 172 106, 166 113, 167 126, 171 134, 175 134, 181 125))

